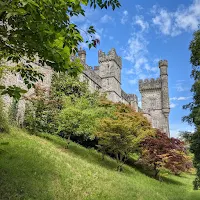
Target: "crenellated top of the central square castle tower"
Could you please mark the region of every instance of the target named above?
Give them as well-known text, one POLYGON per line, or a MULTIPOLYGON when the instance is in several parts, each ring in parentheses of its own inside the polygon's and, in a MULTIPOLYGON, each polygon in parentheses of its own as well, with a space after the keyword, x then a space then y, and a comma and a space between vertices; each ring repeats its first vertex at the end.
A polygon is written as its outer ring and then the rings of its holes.
POLYGON ((114 48, 112 48, 107 55, 105 54, 105 52, 100 50, 98 53, 98 57, 99 57, 99 63, 114 61, 120 68, 122 67, 122 59, 120 56, 117 55, 114 48))

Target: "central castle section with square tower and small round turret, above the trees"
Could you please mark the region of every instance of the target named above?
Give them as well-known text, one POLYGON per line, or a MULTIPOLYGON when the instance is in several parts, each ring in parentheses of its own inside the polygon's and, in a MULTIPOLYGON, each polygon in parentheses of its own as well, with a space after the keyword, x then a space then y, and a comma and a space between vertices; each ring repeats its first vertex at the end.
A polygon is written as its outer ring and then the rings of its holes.
POLYGON ((101 93, 106 93, 109 100, 130 104, 138 111, 137 96, 126 94, 121 89, 122 61, 115 49, 111 49, 108 54, 99 51, 99 66, 95 66, 94 69, 86 64, 86 52, 84 50, 80 49, 78 56, 84 64, 84 71, 80 80, 87 81, 91 91, 99 90, 101 93))

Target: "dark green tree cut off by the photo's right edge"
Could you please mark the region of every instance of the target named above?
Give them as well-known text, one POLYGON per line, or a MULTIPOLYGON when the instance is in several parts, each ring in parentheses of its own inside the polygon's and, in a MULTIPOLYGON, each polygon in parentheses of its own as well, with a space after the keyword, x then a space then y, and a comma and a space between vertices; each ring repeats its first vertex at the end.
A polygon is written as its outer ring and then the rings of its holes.
POLYGON ((190 149, 194 153, 194 166, 197 169, 197 177, 194 180, 194 189, 200 188, 200 30, 194 33, 194 38, 189 47, 191 51, 190 62, 192 64, 191 77, 194 79, 191 92, 193 92, 193 101, 185 106, 190 114, 183 117, 183 121, 193 124, 195 132, 191 137, 190 149))

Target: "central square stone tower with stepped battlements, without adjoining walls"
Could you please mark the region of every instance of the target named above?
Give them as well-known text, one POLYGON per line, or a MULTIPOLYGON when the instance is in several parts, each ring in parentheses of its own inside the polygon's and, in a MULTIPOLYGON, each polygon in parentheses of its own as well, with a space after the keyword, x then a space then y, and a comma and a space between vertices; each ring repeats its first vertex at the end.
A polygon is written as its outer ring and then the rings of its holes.
POLYGON ((98 59, 98 74, 102 78, 102 90, 107 93, 108 99, 114 102, 121 101, 121 57, 113 48, 107 55, 99 51, 98 59))

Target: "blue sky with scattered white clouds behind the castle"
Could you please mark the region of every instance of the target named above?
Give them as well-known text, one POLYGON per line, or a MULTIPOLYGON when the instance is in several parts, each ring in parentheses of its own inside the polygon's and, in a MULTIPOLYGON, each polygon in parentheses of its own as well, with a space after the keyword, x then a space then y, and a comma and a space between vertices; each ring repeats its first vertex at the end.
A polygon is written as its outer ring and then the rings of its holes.
MULTIPOLYGON (((169 63, 170 132, 193 131, 181 121, 188 111, 182 106, 192 100, 189 44, 200 24, 200 0, 122 0, 121 8, 112 11, 86 8, 86 17, 73 17, 84 35, 94 25, 100 39, 96 49, 87 51, 87 64, 98 65, 98 50, 115 48, 122 57, 122 88, 137 94, 138 80, 159 76, 158 61, 169 63)), ((84 35, 87 38, 86 35, 84 35)))

